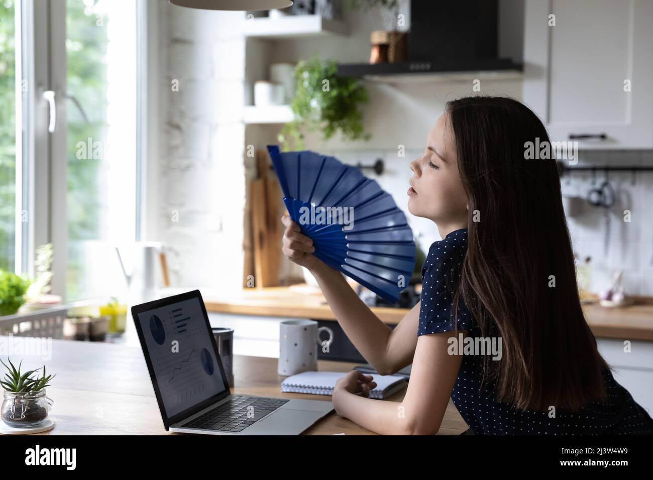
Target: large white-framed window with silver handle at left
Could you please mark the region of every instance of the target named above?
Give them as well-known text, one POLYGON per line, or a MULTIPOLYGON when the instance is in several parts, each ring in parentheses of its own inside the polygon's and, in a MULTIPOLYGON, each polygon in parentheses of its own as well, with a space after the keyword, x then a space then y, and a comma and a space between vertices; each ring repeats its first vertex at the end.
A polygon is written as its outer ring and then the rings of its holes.
POLYGON ((52 243, 65 300, 110 291, 113 247, 140 237, 145 8, 0 3, 0 268, 33 276, 52 243))

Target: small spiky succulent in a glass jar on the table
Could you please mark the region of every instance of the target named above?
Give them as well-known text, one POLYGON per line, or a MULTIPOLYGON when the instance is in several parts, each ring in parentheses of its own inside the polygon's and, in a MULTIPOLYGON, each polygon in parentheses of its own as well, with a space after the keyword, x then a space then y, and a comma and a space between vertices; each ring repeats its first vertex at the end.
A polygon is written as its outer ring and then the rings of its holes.
POLYGON ((42 375, 33 377, 39 370, 29 370, 20 373, 22 360, 18 368, 14 367, 11 360, 7 359, 10 366, 0 360, 7 368, 5 379, 0 380, 4 389, 2 403, 2 419, 8 426, 27 428, 41 424, 48 417, 48 410, 52 407, 52 399, 46 396, 45 387, 54 375, 46 376, 45 366, 42 375))

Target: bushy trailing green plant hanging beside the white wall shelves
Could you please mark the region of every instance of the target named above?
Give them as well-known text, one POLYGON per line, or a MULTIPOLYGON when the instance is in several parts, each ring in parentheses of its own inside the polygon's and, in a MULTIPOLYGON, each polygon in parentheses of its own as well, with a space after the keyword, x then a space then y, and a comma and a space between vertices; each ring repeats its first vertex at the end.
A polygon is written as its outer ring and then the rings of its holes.
POLYGON ((324 140, 340 131, 348 140, 370 140, 363 125, 360 104, 368 101, 368 91, 358 78, 336 75, 336 61, 321 61, 317 55, 301 60, 295 67, 295 97, 291 108, 295 118, 283 125, 278 140, 283 150, 304 149, 304 134, 321 129, 324 140))

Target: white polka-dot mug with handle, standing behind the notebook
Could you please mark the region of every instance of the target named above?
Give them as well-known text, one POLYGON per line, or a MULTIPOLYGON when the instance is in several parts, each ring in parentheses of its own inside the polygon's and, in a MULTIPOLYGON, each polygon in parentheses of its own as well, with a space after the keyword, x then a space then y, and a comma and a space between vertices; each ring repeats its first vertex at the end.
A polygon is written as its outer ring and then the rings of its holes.
POLYGON ((317 370, 317 345, 329 347, 333 342, 333 330, 317 328, 314 320, 287 320, 279 323, 279 367, 277 373, 283 376, 295 375, 308 370, 317 370), (329 338, 320 338, 322 331, 329 338))

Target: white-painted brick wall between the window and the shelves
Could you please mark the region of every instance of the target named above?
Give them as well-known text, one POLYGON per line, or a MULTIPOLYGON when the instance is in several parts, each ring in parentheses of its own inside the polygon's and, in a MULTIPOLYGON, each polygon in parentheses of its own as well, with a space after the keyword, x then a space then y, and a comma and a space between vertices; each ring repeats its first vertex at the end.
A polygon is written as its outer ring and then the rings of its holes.
POLYGON ((246 200, 244 14, 160 8, 166 107, 157 210, 170 280, 238 290, 246 200), (173 80, 179 91, 172 91, 173 80))

